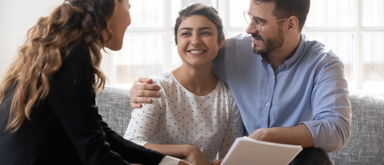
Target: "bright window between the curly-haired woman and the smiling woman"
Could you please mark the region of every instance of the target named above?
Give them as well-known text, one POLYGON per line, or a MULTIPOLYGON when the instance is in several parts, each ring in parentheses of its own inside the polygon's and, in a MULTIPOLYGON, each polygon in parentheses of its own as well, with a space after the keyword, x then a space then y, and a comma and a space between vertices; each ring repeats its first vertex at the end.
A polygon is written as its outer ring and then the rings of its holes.
POLYGON ((174 44, 177 12, 192 2, 218 8, 218 0, 130 0, 132 23, 120 51, 103 53, 107 85, 131 88, 142 76, 157 75, 181 64, 174 44))

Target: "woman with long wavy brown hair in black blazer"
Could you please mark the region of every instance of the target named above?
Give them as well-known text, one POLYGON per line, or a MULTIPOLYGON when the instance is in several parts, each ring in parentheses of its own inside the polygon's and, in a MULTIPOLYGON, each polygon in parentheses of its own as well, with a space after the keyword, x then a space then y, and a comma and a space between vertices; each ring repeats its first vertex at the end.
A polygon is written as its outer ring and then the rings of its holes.
POLYGON ((125 140, 98 114, 100 50, 121 49, 130 7, 68 0, 28 31, 0 86, 1 165, 189 164, 125 140))

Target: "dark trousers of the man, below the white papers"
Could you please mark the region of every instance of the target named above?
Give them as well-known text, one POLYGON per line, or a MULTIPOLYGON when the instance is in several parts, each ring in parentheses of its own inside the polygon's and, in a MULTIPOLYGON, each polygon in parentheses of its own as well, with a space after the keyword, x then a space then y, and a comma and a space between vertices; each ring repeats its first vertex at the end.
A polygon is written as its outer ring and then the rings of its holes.
POLYGON ((290 165, 334 165, 334 163, 327 152, 312 147, 303 149, 290 165))

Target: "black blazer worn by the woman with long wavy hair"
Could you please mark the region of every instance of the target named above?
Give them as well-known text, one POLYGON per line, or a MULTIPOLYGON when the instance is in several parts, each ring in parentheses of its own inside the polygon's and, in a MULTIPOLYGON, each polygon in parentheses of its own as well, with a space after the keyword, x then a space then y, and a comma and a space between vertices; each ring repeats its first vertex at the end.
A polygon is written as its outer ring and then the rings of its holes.
POLYGON ((5 131, 11 89, 0 107, 0 165, 157 165, 164 154, 124 139, 102 120, 93 82, 89 50, 80 44, 50 77, 48 96, 31 120, 12 134, 5 131))

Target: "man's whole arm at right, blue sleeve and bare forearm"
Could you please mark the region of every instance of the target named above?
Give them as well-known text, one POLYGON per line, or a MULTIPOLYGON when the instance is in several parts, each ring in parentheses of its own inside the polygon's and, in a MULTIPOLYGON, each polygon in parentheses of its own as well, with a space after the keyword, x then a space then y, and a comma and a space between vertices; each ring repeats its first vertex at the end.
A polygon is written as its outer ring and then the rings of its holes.
POLYGON ((343 63, 331 54, 319 64, 321 68, 316 71, 311 98, 313 120, 294 127, 258 129, 250 137, 326 152, 344 147, 350 136, 352 115, 343 63))

